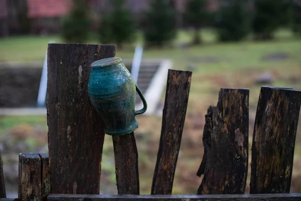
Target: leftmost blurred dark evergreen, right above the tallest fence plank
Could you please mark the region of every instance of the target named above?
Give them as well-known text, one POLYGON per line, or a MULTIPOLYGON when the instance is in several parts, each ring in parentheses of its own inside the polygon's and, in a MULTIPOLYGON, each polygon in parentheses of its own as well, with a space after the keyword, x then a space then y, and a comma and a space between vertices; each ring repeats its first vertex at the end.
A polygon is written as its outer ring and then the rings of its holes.
POLYGON ((62 35, 67 42, 82 43, 89 37, 91 20, 85 0, 74 0, 73 8, 63 19, 62 35))

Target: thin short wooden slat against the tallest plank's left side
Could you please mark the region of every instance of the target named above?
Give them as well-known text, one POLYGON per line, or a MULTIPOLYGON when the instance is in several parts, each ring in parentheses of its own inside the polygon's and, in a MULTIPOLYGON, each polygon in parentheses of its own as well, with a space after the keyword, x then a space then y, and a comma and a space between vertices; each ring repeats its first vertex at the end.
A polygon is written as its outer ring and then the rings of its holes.
POLYGON ((40 153, 41 158, 41 174, 42 174, 42 201, 47 200, 47 195, 50 194, 50 167, 49 156, 46 153, 40 153))

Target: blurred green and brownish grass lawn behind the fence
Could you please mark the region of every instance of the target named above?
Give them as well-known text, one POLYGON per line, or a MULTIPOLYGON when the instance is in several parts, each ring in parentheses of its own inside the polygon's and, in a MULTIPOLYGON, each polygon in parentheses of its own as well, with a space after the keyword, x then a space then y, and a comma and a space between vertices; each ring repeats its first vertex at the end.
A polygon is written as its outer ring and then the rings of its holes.
MULTIPOLYGON (((181 31, 174 47, 165 49, 146 49, 143 58, 169 58, 173 68, 192 70, 192 84, 188 111, 183 132, 181 152, 178 159, 173 193, 195 193, 201 179, 196 171, 200 165, 202 129, 205 114, 210 105, 216 105, 221 87, 250 89, 250 140, 252 142, 253 122, 260 91, 256 78, 262 73, 270 73, 274 81, 270 85, 292 87, 301 90, 301 40, 293 38, 290 32, 280 30, 276 39, 269 42, 216 43, 212 30, 204 30, 204 44, 185 47, 181 44, 190 41, 191 32, 181 31), (284 54, 284 60, 263 60, 271 54, 284 54)), ((0 61, 43 61, 47 43, 51 40, 62 42, 55 37, 12 37, 0 40, 0 61)), ((141 42, 141 36, 137 43, 141 42)), ((90 43, 97 43, 91 40, 90 43)), ((116 56, 133 57, 133 47, 117 50, 116 56)), ((137 116, 139 129, 135 132, 139 153, 140 189, 149 194, 152 174, 159 146, 161 121, 159 117, 137 116)), ((0 136, 14 134, 12 128, 22 125, 42 125, 47 136, 46 117, 0 117, 0 136)), ((293 181, 301 176, 301 126, 299 124, 294 156, 293 181)), ((26 151, 26 150, 25 150, 26 151)), ((250 158, 250 157, 249 157, 250 158)), ((106 193, 116 193, 112 141, 105 138, 102 164, 101 189, 106 193)), ((293 183, 293 182, 292 182, 293 183)), ((249 184, 247 184, 248 188, 249 184)))

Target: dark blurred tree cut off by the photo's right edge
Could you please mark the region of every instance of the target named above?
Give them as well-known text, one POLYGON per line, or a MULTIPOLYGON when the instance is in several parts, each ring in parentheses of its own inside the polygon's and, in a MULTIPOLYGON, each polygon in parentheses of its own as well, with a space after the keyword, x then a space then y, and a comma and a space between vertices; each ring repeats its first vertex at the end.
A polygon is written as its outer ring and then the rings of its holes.
POLYGON ((291 1, 292 31, 301 36, 301 0, 291 1))

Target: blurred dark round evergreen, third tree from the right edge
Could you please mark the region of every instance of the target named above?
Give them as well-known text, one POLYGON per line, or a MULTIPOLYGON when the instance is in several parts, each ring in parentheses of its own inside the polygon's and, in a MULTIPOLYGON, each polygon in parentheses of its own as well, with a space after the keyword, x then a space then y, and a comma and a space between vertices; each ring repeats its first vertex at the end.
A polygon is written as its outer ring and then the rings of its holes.
POLYGON ((240 41, 250 32, 246 1, 223 0, 216 14, 215 27, 219 41, 240 41))

